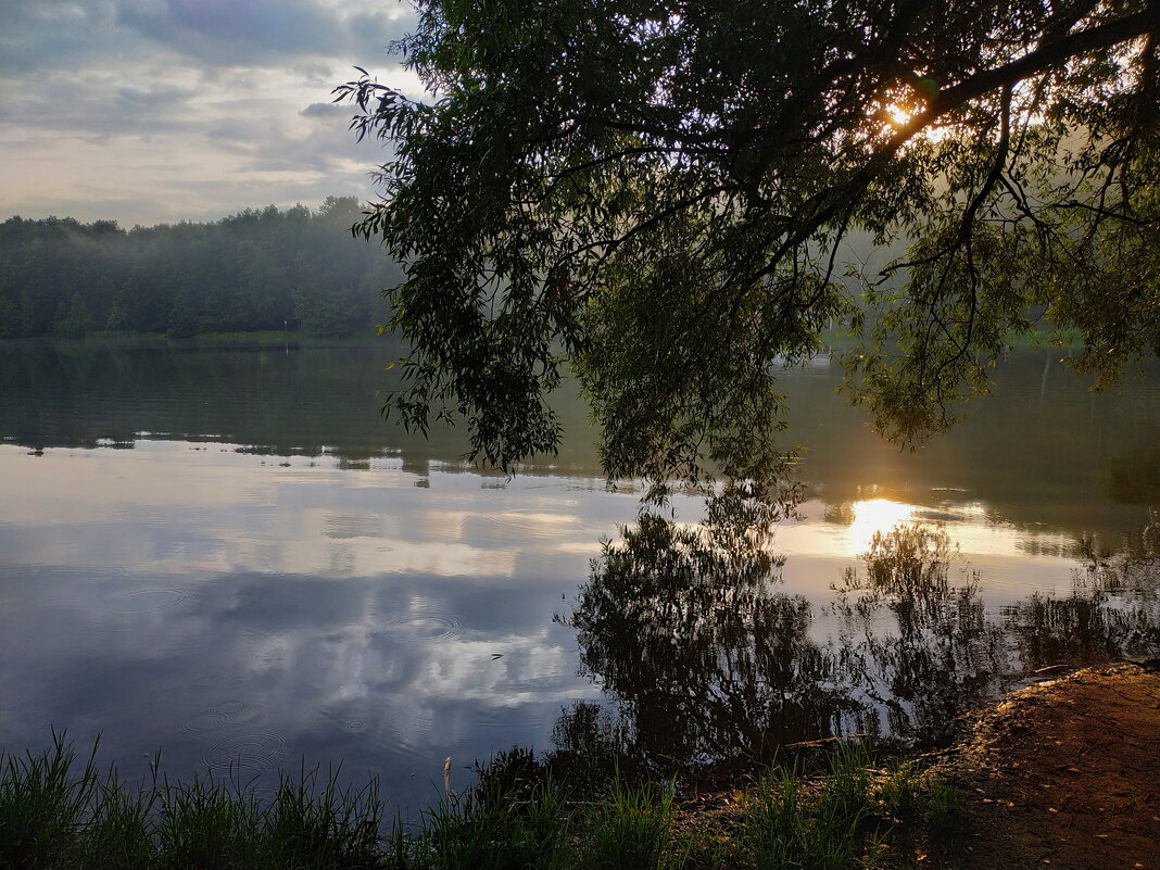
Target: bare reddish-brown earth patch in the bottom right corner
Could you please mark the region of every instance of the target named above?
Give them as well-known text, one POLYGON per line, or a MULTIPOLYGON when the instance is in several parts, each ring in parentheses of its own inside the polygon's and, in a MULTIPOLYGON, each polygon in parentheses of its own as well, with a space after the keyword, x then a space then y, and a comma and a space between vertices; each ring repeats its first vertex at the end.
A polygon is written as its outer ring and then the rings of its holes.
POLYGON ((1013 693, 943 774, 966 868, 1160 870, 1160 675, 1119 665, 1013 693))

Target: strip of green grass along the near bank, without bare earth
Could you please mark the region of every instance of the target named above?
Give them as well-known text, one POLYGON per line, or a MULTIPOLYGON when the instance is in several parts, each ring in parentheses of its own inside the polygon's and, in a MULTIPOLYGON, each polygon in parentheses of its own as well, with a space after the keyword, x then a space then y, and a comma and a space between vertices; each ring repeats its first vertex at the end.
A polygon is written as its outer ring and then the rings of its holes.
POLYGON ((546 775, 519 788, 485 775, 414 822, 384 824, 376 781, 340 788, 336 769, 283 774, 264 803, 234 778, 171 783, 158 760, 147 782, 130 786, 97 767, 96 746, 79 756, 53 734, 39 755, 0 754, 0 870, 909 867, 915 836, 945 836, 958 824, 960 798, 911 764, 871 764, 865 746, 843 744, 822 775, 774 767, 713 812, 682 809, 672 782, 616 774, 582 796, 546 775))

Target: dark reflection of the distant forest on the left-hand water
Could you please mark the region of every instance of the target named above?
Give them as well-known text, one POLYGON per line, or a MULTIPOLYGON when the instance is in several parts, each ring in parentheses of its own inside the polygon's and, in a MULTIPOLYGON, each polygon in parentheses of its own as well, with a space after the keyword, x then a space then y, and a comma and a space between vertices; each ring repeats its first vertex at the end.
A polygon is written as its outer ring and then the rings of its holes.
MULTIPOLYGON (((222 442, 247 454, 334 457, 368 470, 399 457, 398 434, 379 415, 380 390, 399 356, 387 341, 270 348, 187 342, 0 341, 0 436, 34 450, 132 448, 145 440, 222 442)), ((556 458, 561 470, 596 470, 585 437, 587 411, 568 394, 561 422, 579 438, 556 458)), ((433 428, 404 440, 407 471, 462 465, 466 438, 433 428)))

